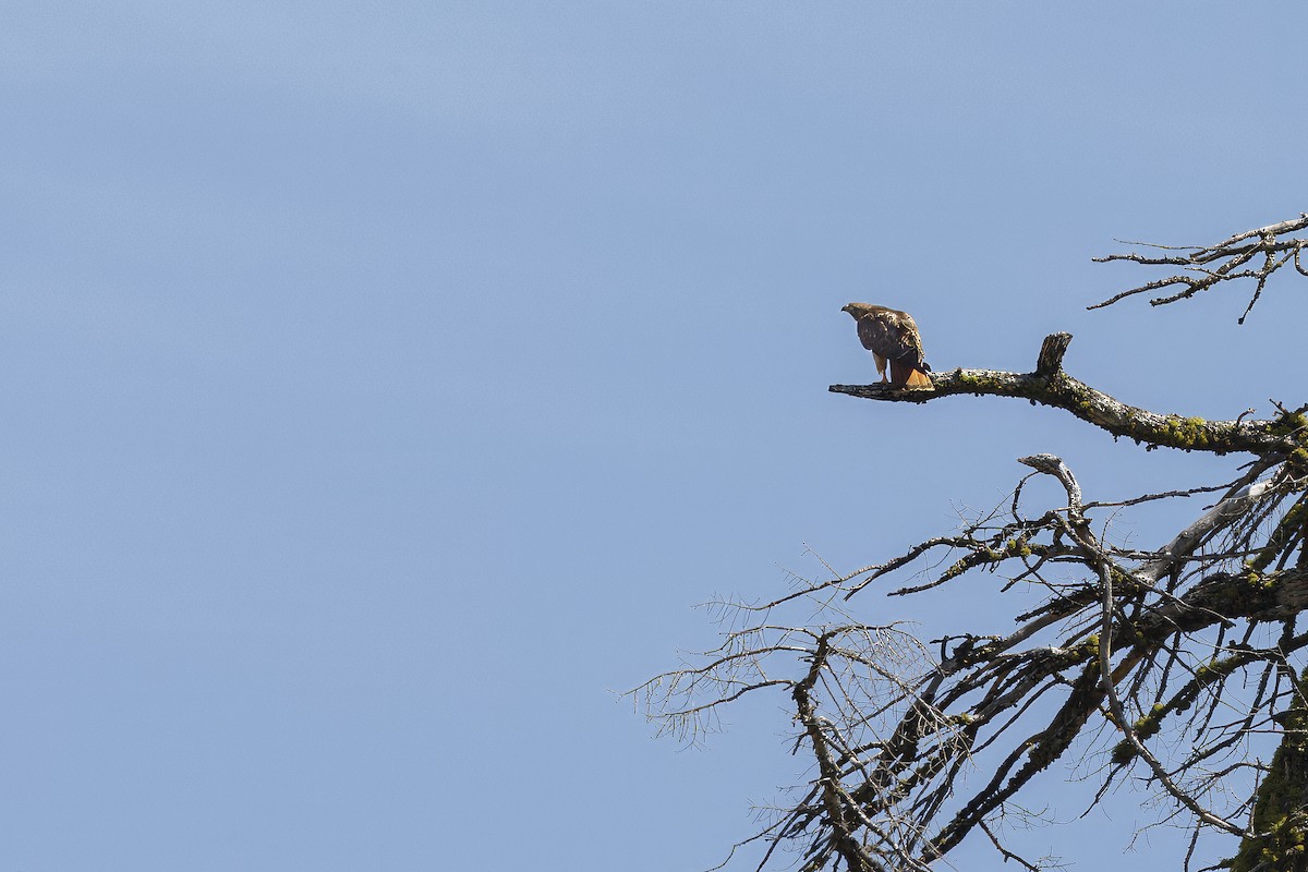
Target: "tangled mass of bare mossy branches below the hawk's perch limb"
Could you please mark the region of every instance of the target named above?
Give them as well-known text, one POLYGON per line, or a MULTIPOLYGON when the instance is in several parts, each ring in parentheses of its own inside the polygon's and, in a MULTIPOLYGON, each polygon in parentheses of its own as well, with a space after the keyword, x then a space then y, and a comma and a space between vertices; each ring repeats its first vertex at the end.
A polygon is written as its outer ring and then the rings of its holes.
POLYGON ((1301 545, 1303 480, 1288 464, 1270 475, 1265 461, 1253 464, 1167 545, 1137 552, 1096 535, 1092 512, 1120 506, 1086 502, 1061 459, 1020 461, 1058 477, 1067 505, 1027 516, 1019 485, 1011 520, 988 514, 905 558, 740 605, 738 616, 761 613, 763 622, 727 633, 722 647, 705 652, 704 665, 633 692, 664 728, 683 735, 705 728, 695 722, 744 694, 786 692, 800 731, 797 748, 812 756, 816 773, 803 799, 783 807, 760 838, 773 847, 798 843, 803 868, 926 869, 973 833, 1011 854, 994 824, 1020 814, 1028 786, 1071 748, 1105 733, 1125 739, 1105 763, 1100 797, 1138 765, 1197 825, 1244 833, 1240 821, 1252 800, 1227 801, 1214 773, 1223 771, 1216 766, 1223 760, 1253 765, 1241 762, 1243 737, 1273 723, 1273 707, 1286 696, 1277 676, 1288 656, 1308 648, 1308 634, 1288 629, 1270 645, 1250 642, 1254 628, 1290 628, 1308 608, 1308 566, 1262 556, 1269 546, 1286 554, 1301 545), (1270 532, 1264 522, 1247 523, 1277 515, 1270 532), (961 556, 931 560, 942 549, 961 556), (942 641, 933 662, 903 630, 858 624, 848 607, 836 605, 918 557, 933 567, 926 580, 896 592, 990 574, 1006 579, 1002 591, 1020 580, 1050 596, 1007 633, 942 641), (812 604, 829 622, 778 620, 798 607, 811 621, 812 604), (1222 647, 1236 626, 1248 628, 1245 638, 1222 647), (1172 672, 1181 675, 1180 686, 1169 688, 1172 672), (1209 726, 1216 703, 1250 684, 1261 689, 1245 722, 1209 726), (1040 701, 1045 705, 1036 706, 1040 701), (1154 746, 1164 729, 1171 737, 1154 746), (1205 765, 1171 769, 1165 757, 1175 748, 1193 748, 1205 765), (986 773, 980 783, 960 780, 978 765, 986 773))

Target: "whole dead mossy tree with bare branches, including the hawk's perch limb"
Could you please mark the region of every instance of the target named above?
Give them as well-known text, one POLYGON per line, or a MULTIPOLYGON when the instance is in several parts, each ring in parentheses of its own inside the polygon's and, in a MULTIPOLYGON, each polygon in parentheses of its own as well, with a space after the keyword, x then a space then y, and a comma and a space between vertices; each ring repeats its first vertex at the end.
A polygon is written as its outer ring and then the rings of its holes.
MULTIPOLYGON (((1181 288, 1154 299, 1171 303, 1249 278, 1248 315, 1277 269, 1292 263, 1308 275, 1308 239, 1288 237, 1304 227, 1308 214, 1216 246, 1113 255, 1104 260, 1181 275, 1100 306, 1181 288)), ((1075 743, 1103 750, 1093 803, 1143 783, 1164 800, 1165 821, 1193 830, 1192 855, 1201 834, 1216 833, 1236 851, 1220 868, 1308 869, 1308 631, 1298 628, 1308 608, 1308 405, 1278 404, 1257 421, 1134 408, 1063 370, 1070 340, 1046 337, 1031 373, 937 373, 933 391, 829 390, 893 403, 1020 397, 1148 448, 1240 455, 1243 465, 1219 484, 1109 502, 1087 501, 1059 458, 1022 458, 1031 472, 1011 503, 954 532, 769 603, 719 603, 722 645, 630 694, 662 731, 691 741, 713 729, 723 706, 783 694, 812 778, 746 839, 765 843, 760 868, 790 848, 811 872, 927 869, 969 838, 1044 868, 1018 856, 1003 821, 1029 814, 1033 779, 1075 743), (1062 505, 1028 510, 1032 476, 1056 480, 1062 505), (1104 535, 1108 515, 1121 524, 1135 506, 1197 494, 1211 507, 1156 549, 1104 535), (981 573, 1002 591, 1039 595, 1014 609, 1005 631, 923 642, 905 626, 857 617, 859 601, 896 578, 908 583, 889 596, 981 573), (786 618, 797 605, 806 620, 786 618), (1269 740, 1274 754, 1260 762, 1254 750, 1269 740)))

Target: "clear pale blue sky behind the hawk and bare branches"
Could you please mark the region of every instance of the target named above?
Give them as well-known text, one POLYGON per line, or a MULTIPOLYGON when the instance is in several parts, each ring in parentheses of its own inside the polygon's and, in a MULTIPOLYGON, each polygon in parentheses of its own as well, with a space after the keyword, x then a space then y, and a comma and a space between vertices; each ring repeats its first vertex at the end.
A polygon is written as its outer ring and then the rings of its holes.
MULTIPOLYGON (((1298 405, 1304 284, 1244 327, 1083 307, 1146 277, 1114 238, 1308 209, 1305 39, 1288 3, 0 3, 0 869, 713 865, 804 775, 781 701, 680 750, 612 693, 715 645, 692 605, 947 532, 1027 454, 1090 498, 1240 461, 831 395, 875 378, 840 307, 938 370, 1066 329, 1130 403, 1298 405)), ((1112 860, 1139 816, 1037 842, 1112 860)))

